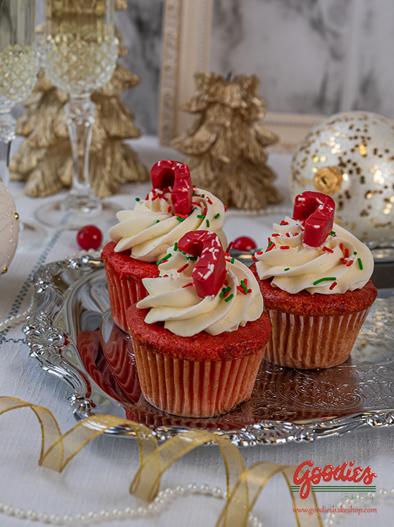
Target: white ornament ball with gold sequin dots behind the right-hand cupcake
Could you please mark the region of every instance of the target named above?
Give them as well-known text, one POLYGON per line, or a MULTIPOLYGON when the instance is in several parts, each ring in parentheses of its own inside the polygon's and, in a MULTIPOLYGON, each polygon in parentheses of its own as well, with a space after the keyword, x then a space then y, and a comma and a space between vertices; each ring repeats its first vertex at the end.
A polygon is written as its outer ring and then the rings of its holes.
POLYGON ((394 241, 394 124, 368 111, 325 119, 297 146, 290 191, 335 200, 335 222, 364 242, 394 241))

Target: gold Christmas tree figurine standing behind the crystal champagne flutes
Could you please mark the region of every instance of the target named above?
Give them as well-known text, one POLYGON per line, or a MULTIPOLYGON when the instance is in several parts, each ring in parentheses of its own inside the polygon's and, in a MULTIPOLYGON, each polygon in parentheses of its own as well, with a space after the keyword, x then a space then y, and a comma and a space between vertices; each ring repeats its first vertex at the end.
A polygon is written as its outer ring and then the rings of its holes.
MULTIPOLYGON (((125 8, 124 0, 116 1, 116 9, 125 8)), ((125 56, 128 52, 121 45, 118 30, 116 37, 120 42, 119 56, 125 56)), ((120 183, 149 178, 137 154, 123 143, 123 139, 140 137, 134 114, 121 99, 125 90, 139 83, 137 75, 118 64, 109 83, 92 95, 97 111, 92 126, 89 175, 92 190, 99 198, 116 193, 120 183)), ((34 91, 25 101, 27 110, 16 128, 16 133, 26 140, 10 163, 11 179, 26 181, 27 195, 51 195, 71 185, 73 161, 63 109, 67 101, 68 94, 54 87, 43 70, 39 71, 34 91)))

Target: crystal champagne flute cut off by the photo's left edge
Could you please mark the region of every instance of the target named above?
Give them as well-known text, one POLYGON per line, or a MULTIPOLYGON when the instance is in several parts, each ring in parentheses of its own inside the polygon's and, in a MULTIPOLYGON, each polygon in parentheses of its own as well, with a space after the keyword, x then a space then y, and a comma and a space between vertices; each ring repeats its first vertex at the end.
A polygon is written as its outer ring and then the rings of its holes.
MULTIPOLYGON (((6 186, 16 130, 11 109, 30 95, 37 71, 35 0, 0 0, 0 176, 6 186)), ((24 222, 20 226, 18 247, 21 250, 37 248, 47 239, 43 227, 24 222)))

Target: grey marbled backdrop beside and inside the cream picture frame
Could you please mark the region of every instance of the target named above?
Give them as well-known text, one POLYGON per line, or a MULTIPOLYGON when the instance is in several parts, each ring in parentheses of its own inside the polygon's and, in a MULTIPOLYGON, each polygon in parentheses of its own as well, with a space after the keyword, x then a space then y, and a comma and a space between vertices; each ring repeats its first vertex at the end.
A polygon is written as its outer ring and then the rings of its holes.
MULTIPOLYGON (((142 78, 124 99, 146 134, 157 132, 163 9, 128 0, 116 13, 129 49, 121 62, 142 78)), ((394 2, 214 0, 211 71, 258 75, 270 111, 394 119, 394 2)))

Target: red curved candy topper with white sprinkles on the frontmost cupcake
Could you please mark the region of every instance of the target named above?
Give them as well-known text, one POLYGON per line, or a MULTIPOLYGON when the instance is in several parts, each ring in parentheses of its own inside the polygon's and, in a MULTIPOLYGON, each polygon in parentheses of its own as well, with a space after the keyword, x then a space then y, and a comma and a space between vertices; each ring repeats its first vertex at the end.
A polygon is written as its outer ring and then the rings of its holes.
POLYGON ((217 295, 226 279, 226 259, 217 234, 188 232, 178 241, 178 249, 198 258, 192 272, 197 295, 200 298, 217 295))

